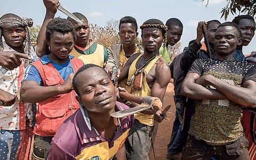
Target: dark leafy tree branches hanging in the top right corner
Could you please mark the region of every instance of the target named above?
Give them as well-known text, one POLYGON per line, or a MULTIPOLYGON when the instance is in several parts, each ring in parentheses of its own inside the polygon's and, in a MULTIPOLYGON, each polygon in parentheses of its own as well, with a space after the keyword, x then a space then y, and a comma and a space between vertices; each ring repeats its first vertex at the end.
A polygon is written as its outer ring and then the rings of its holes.
MULTIPOLYGON (((201 0, 204 2, 205 0, 201 0)), ((206 0, 206 7, 209 4, 209 0, 206 0)), ((256 0, 227 0, 227 5, 221 10, 221 18, 224 17, 225 20, 228 18, 228 14, 249 14, 255 16, 256 14, 256 0)))

